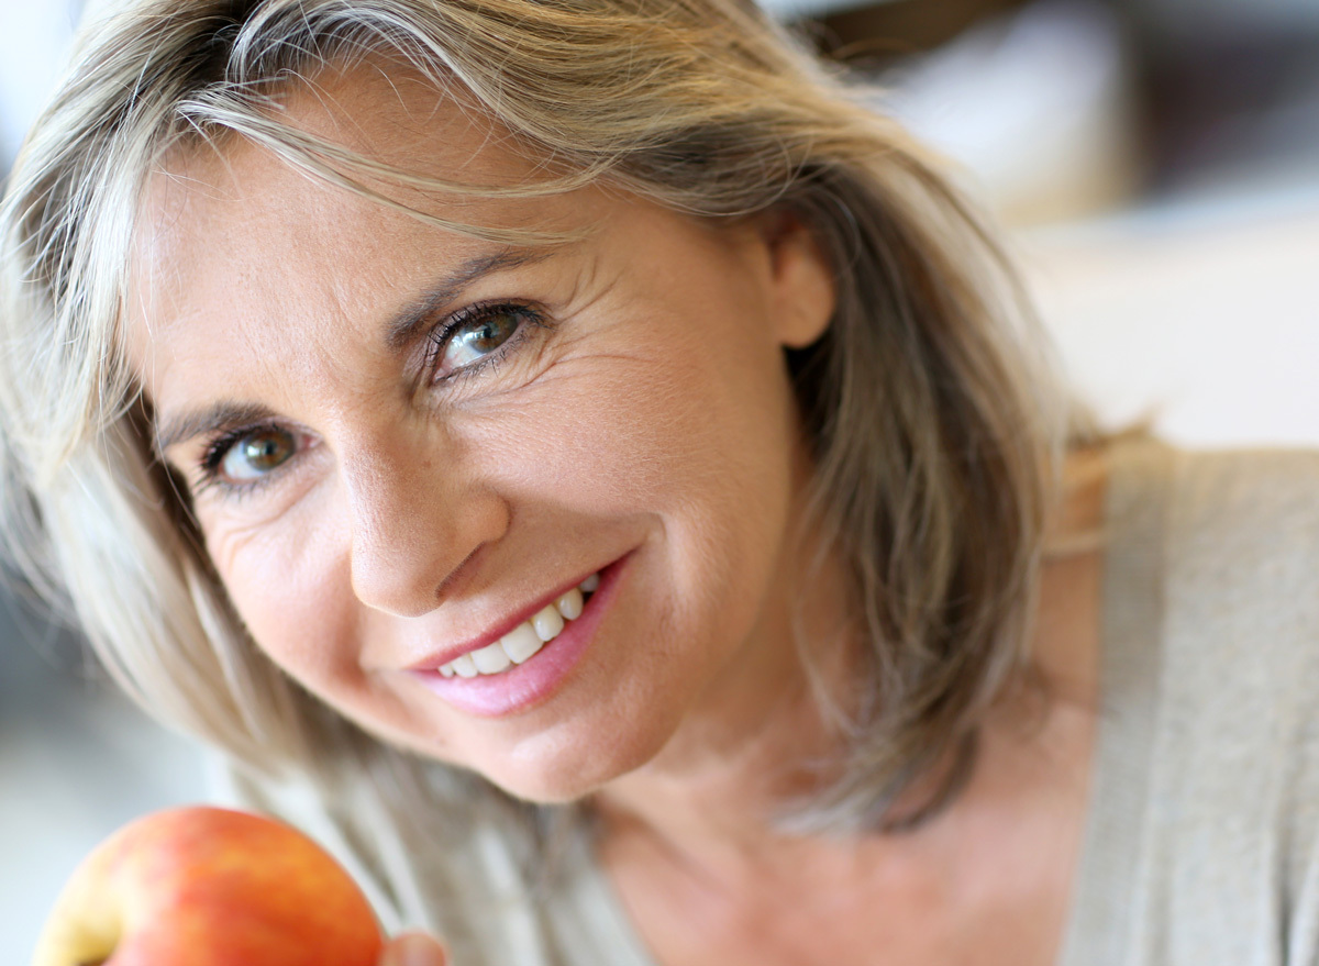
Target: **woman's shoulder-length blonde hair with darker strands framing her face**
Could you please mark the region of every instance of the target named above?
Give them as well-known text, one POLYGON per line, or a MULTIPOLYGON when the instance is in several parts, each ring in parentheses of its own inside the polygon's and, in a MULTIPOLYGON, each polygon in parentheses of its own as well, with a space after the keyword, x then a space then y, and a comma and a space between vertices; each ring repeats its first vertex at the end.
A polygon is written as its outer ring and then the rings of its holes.
POLYGON ((3 210, 0 487, 20 571, 144 707, 268 767, 398 760, 248 639, 117 348, 145 179, 190 139, 230 136, 363 193, 379 177, 524 195, 608 181, 695 216, 797 212, 836 267, 838 311, 789 366, 869 686, 842 779, 795 814, 894 823, 913 783, 971 760, 1026 662, 1068 406, 976 218, 898 127, 737 0, 149 0, 84 34, 3 210), (359 58, 462 91, 545 178, 419 179, 280 121, 281 92, 359 58))

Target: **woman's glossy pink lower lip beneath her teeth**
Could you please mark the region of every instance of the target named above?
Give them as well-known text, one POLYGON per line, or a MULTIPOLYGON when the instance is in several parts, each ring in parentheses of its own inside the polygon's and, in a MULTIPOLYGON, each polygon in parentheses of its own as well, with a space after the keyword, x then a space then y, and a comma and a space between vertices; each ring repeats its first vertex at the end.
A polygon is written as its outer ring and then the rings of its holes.
POLYGON ((529 711, 547 701, 567 680, 591 645, 595 629, 617 596, 623 570, 630 554, 600 571, 600 586, 575 620, 565 623, 559 636, 537 651, 525 664, 499 674, 445 677, 438 670, 409 672, 446 702, 481 718, 504 718, 529 711))

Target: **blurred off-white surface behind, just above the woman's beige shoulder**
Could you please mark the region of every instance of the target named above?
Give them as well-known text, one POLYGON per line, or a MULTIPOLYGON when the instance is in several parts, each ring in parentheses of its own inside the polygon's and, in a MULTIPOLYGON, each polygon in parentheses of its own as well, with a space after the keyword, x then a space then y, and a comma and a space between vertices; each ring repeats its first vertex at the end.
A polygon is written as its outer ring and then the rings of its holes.
POLYGON ((1319 174, 1020 240, 1101 414, 1199 445, 1319 445, 1319 174))

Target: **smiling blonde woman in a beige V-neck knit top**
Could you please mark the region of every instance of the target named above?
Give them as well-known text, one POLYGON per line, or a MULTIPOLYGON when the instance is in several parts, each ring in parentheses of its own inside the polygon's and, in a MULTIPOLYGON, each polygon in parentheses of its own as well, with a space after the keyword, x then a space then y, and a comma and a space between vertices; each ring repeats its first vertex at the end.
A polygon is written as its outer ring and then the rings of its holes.
POLYGON ((4 228, 12 553, 386 959, 1319 959, 1319 466, 1087 434, 751 7, 135 4, 4 228))

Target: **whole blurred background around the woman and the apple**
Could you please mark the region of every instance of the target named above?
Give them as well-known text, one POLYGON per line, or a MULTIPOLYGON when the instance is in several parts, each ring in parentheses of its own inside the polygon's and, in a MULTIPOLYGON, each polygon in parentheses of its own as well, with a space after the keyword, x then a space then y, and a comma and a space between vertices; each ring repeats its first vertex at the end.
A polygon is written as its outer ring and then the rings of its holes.
MULTIPOLYGON (((183 1, 183 0, 181 0, 183 1)), ((773 0, 1004 220, 1112 425, 1319 445, 1319 1, 773 0)), ((77 0, 0 0, 0 170, 77 0)), ((0 595, 0 962, 128 818, 207 796, 79 643, 0 595)))

